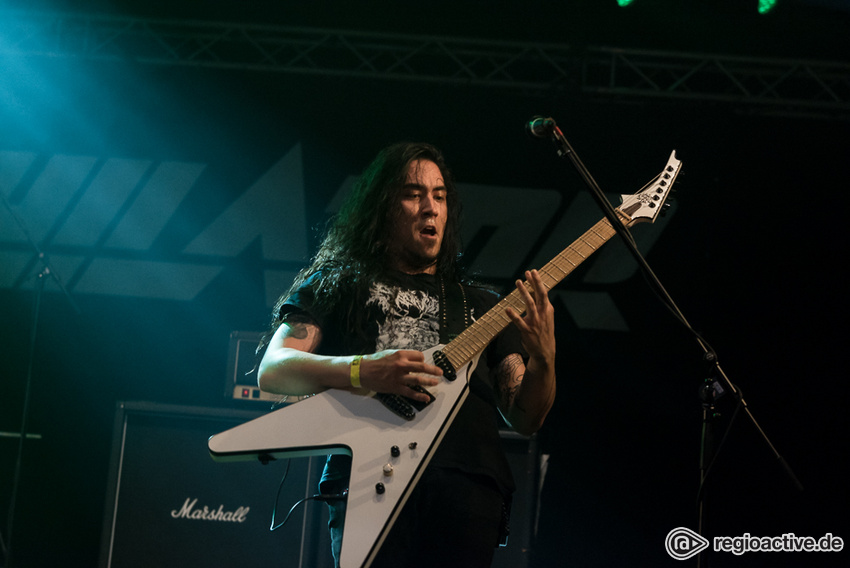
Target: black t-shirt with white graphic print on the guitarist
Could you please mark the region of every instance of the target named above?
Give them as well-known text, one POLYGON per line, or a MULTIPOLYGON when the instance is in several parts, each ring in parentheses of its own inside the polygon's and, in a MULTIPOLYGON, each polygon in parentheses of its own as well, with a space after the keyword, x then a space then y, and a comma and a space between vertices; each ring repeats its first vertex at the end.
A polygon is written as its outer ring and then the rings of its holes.
MULTIPOLYGON (((322 312, 314 306, 314 283, 315 277, 292 294, 282 313, 303 311, 310 315, 322 330, 317 351, 322 355, 366 354, 384 349, 424 351, 440 344, 440 306, 445 303, 446 288, 457 287, 456 283, 442 282, 439 276, 394 272, 373 282, 367 291, 339 298, 333 309, 322 312)), ((463 306, 461 311, 467 312, 462 318, 453 314, 459 321, 472 323, 499 300, 486 288, 464 285, 462 290, 462 300, 450 302, 452 306, 463 306)), ((456 468, 485 475, 506 494, 513 491, 513 477, 499 437, 501 419, 490 373, 512 353, 524 351, 518 330, 510 325, 481 356, 472 374, 469 396, 429 468, 456 468)), ((331 456, 323 481, 344 478, 349 464, 348 456, 331 456)))

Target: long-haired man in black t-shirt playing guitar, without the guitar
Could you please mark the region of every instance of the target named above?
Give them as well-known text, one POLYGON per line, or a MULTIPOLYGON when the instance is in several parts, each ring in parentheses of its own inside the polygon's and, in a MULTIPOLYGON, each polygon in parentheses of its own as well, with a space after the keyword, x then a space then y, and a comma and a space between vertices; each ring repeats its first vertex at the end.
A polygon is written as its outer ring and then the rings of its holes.
MULTIPOLYGON (((459 213, 436 148, 402 143, 382 150, 311 265, 278 300, 260 387, 287 395, 363 390, 429 403, 427 389, 444 371, 423 351, 447 343, 499 300, 458 266, 459 213)), ((514 489, 499 414, 530 435, 555 398, 554 310, 537 271, 525 276, 516 283, 524 312, 504 309, 513 325, 481 355, 467 398, 371 566, 492 563, 514 489)), ((350 467, 349 456, 331 455, 321 492, 343 493, 350 467)), ((346 507, 354 505, 329 506, 339 565, 346 507)))

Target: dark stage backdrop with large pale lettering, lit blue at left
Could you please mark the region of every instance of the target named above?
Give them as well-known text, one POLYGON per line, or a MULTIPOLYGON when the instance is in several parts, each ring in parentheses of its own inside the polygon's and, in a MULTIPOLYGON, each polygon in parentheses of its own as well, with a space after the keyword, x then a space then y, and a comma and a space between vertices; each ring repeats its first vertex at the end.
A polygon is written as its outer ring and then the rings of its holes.
MULTIPOLYGON (((761 20, 734 2, 715 3, 711 17, 708 2, 691 11, 669 2, 622 10, 613 0, 364 2, 358 9, 341 2, 6 4, 0 7, 128 21, 565 44, 577 53, 614 46, 845 63, 850 54, 841 2, 788 2, 761 20)), ((4 13, 0 29, 26 13, 4 13)), ((16 566, 97 564, 117 401, 260 408, 222 395, 230 333, 267 325, 270 305, 309 258, 338 195, 385 144, 426 140, 444 150, 465 195, 467 262, 502 289, 589 228, 601 213, 569 163, 526 136, 523 125, 534 115, 558 121, 612 199, 637 191, 672 150, 684 163, 669 214, 633 233, 805 488, 797 490, 739 415, 706 487, 705 534, 850 538, 842 458, 846 106, 841 116, 699 97, 606 97, 577 87, 578 68, 576 83, 530 92, 154 65, 0 41, 0 192, 78 309, 47 283, 28 428, 41 437, 24 446, 16 566)), ((0 208, 0 430, 7 432, 21 427, 35 256, 0 208)), ((619 242, 552 300, 559 392, 539 435, 548 466, 532 564, 677 565, 664 539, 675 527, 696 529, 698 391, 706 378, 699 346, 619 242)), ((719 411, 718 438, 733 408, 721 399, 719 411)), ((4 538, 17 449, 14 438, 0 439, 4 538)), ((705 561, 838 566, 847 554, 716 553, 705 561)))

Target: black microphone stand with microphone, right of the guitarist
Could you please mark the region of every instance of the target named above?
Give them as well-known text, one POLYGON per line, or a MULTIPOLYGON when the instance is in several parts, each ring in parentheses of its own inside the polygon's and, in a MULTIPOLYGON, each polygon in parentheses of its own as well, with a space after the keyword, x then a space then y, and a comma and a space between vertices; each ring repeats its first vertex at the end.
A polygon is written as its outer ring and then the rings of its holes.
MULTIPOLYGON (((711 432, 711 420, 714 418, 714 400, 717 396, 724 394, 723 386, 712 377, 720 377, 723 381, 723 385, 726 386, 729 393, 737 401, 737 406, 735 408, 735 413, 732 416, 732 419, 729 422, 729 428, 727 429, 727 434, 729 429, 731 429, 732 423, 735 420, 738 412, 743 410, 746 416, 749 418, 750 422, 756 427, 756 430, 761 435, 762 439, 765 441, 767 446, 770 448, 770 451, 779 461, 779 464, 794 482, 794 485, 798 490, 802 491, 803 486, 800 481, 797 479, 797 476, 794 475, 794 472, 791 470, 791 467, 785 461, 785 459, 779 454, 773 444, 770 442, 770 439, 767 437, 767 434, 762 430, 759 423, 756 421, 755 416, 750 411, 747 402, 744 400, 743 394, 740 389, 738 389, 720 367, 720 363, 718 361, 717 353, 705 339, 691 327, 690 323, 688 323, 684 314, 679 310, 676 303, 673 301, 672 296, 667 292, 664 286, 661 284, 661 281, 652 271, 652 268, 647 263, 646 259, 641 254, 640 250, 637 248, 637 244, 634 241, 631 233, 629 232, 628 227, 626 227, 620 218, 617 216, 614 207, 608 201, 608 198, 602 192, 602 189, 596 183, 596 180, 593 179, 593 176, 590 174, 588 169, 582 163, 581 159, 576 154, 573 147, 570 145, 567 138, 564 136, 561 129, 558 128, 557 124, 554 120, 550 118, 542 119, 540 117, 535 117, 532 119, 530 123, 526 125, 527 130, 533 135, 537 137, 549 137, 552 143, 555 144, 557 154, 560 158, 569 158, 572 162, 575 169, 578 171, 582 180, 584 180, 587 187, 590 189, 590 193, 593 198, 596 200, 602 212, 605 214, 605 217, 611 223, 611 226, 614 227, 614 230, 620 235, 621 240, 626 245, 626 249, 631 253, 631 255, 635 258, 638 263, 638 267, 643 272, 647 281, 650 284, 652 290, 659 296, 664 305, 669 309, 673 315, 678 319, 682 325, 685 326, 685 329, 690 332, 696 342, 699 344, 700 348, 703 351, 702 359, 711 367, 711 372, 709 374, 709 378, 705 380, 705 383, 700 391, 700 396, 702 398, 702 436, 701 436, 701 445, 700 445, 700 485, 699 492, 697 494, 697 521, 698 521, 698 532, 700 535, 703 534, 703 516, 704 516, 704 487, 705 481, 708 476, 708 473, 711 469, 711 464, 713 457, 717 455, 716 452, 713 453, 713 439, 711 432), (708 464, 708 465, 706 465, 708 464)), ((725 441, 725 437, 724 437, 725 441)), ((720 446, 722 447, 723 442, 721 442, 720 446)), ((718 452, 719 452, 718 448, 718 452)), ((697 555, 697 567, 700 566, 700 557, 702 555, 697 555)))

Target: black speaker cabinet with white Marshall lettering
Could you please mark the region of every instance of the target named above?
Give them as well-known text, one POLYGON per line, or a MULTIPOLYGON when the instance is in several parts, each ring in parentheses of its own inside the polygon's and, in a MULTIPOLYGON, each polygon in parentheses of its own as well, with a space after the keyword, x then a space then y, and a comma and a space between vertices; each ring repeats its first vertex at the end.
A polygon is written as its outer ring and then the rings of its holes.
POLYGON ((318 492, 322 458, 214 462, 208 438, 262 412, 119 403, 101 567, 332 565, 318 492), (280 493, 278 490, 280 488, 280 493), (275 505, 277 503, 277 505, 275 505), (329 564, 330 563, 330 564, 329 564))

